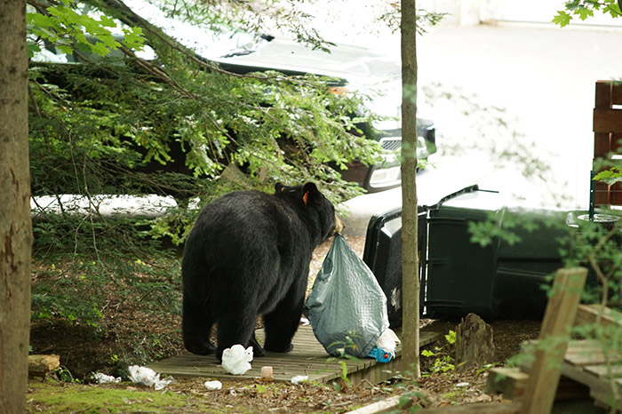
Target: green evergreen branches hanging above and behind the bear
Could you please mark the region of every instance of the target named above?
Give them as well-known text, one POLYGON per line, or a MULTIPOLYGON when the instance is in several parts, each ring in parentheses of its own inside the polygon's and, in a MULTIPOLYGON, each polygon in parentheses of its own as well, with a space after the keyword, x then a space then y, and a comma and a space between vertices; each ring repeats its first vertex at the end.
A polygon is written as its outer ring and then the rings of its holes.
POLYGON ((93 1, 110 14, 97 20, 77 5, 37 4, 29 13, 37 45, 55 43, 81 62, 31 68, 35 195, 156 193, 198 196, 200 206, 205 182, 230 179, 231 171, 244 173, 234 174, 242 187, 316 180, 333 201, 360 193, 328 163, 374 163, 379 147, 357 128, 372 119, 357 116, 364 98, 328 88, 339 80, 227 73, 120 2, 93 1), (108 30, 112 17, 141 27, 124 28, 119 41, 108 30), (136 57, 140 40, 156 60, 136 57), (123 53, 106 55, 111 51, 123 53))

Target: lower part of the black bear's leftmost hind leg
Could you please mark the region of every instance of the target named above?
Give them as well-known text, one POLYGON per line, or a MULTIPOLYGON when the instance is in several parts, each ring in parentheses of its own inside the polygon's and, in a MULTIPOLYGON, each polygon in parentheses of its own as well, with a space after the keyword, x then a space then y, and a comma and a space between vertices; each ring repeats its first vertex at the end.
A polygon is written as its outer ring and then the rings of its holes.
POLYGON ((184 300, 181 322, 181 332, 184 347, 198 355, 209 355, 216 352, 216 346, 211 344, 211 326, 213 320, 203 307, 193 306, 190 301, 184 300))

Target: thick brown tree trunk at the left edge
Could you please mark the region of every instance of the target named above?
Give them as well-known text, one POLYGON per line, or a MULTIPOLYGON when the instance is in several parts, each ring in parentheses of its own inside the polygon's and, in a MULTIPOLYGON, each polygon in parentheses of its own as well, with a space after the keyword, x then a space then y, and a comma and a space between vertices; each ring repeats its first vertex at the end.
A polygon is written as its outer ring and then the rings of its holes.
POLYGON ((0 412, 26 412, 30 178, 26 2, 0 2, 0 412))

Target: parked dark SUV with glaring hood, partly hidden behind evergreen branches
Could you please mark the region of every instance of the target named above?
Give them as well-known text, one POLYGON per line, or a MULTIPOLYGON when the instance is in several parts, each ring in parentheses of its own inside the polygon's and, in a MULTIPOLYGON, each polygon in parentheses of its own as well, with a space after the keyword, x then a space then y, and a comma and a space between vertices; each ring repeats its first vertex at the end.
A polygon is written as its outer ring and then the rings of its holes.
MULTIPOLYGON (((367 109, 386 117, 386 120, 374 125, 362 125, 361 129, 367 138, 376 139, 381 144, 382 162, 375 165, 350 163, 341 175, 343 179, 357 182, 368 192, 401 185, 402 79, 399 62, 360 46, 335 44, 327 53, 274 36, 262 36, 259 42, 210 59, 218 61, 222 68, 239 74, 278 70, 287 75, 310 73, 333 76, 341 80, 339 87, 335 88, 336 92, 363 92, 371 96, 367 109)), ((417 132, 417 156, 427 159, 436 151, 434 121, 418 117, 417 132)))

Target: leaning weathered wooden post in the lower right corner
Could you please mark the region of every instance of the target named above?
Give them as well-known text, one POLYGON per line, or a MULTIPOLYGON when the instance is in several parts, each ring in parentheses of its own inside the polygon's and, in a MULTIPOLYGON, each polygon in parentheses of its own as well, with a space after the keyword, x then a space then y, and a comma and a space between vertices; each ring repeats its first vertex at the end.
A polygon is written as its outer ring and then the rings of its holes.
POLYGON ((548 299, 540 329, 536 361, 522 396, 521 413, 551 412, 560 380, 563 355, 570 339, 570 328, 577 314, 578 301, 586 283, 584 267, 560 269, 555 275, 552 296, 548 299))

